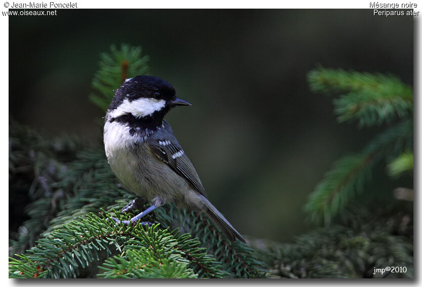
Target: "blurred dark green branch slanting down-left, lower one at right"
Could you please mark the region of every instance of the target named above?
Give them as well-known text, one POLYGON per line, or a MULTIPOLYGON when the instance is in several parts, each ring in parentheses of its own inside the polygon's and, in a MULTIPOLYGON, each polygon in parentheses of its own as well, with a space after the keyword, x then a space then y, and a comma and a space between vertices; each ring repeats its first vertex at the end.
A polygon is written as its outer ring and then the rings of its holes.
POLYGON ((337 161, 309 196, 305 210, 311 218, 329 224, 357 194, 362 193, 376 164, 412 148, 412 130, 411 121, 400 123, 375 137, 361 153, 337 161))

